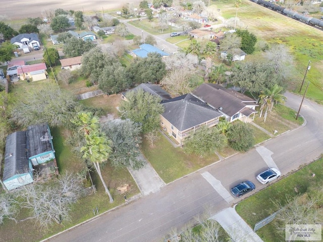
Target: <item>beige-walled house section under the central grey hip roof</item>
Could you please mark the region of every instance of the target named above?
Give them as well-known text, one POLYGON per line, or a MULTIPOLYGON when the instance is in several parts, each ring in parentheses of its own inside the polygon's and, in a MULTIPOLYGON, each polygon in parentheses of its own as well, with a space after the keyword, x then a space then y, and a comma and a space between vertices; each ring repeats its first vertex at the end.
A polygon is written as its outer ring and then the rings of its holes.
POLYGON ((203 126, 213 127, 224 116, 192 94, 185 94, 161 102, 165 108, 160 115, 160 124, 179 144, 190 133, 203 126))

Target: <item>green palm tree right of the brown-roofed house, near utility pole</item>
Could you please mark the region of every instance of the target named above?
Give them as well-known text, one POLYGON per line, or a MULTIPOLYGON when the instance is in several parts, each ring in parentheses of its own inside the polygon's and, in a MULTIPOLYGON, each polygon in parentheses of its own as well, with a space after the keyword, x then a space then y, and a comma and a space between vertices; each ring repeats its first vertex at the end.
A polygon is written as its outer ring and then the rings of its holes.
POLYGON ((266 122, 268 109, 272 111, 275 103, 277 104, 277 103, 284 102, 285 96, 282 94, 283 91, 284 91, 284 88, 281 86, 278 86, 277 84, 275 84, 271 89, 266 88, 264 91, 261 91, 259 95, 259 99, 261 103, 260 115, 259 115, 260 117, 263 109, 266 108, 263 122, 266 122))

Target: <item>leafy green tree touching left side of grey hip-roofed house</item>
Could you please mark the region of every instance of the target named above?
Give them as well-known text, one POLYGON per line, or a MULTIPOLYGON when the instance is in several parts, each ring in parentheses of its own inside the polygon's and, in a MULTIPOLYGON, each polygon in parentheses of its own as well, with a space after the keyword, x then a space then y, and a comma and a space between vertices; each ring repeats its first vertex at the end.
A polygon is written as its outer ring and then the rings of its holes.
POLYGON ((122 119, 129 118, 141 124, 144 134, 159 127, 159 115, 164 112, 160 97, 151 95, 142 89, 129 91, 126 97, 127 101, 123 101, 120 105, 122 119))

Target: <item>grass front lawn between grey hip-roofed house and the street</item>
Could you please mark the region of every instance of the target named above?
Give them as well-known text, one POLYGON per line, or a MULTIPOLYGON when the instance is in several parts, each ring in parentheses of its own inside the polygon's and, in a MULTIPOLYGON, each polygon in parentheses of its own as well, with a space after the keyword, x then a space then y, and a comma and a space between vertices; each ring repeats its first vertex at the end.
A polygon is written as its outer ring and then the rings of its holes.
POLYGON ((153 147, 143 139, 141 151, 165 183, 219 160, 216 155, 209 157, 188 155, 180 147, 174 148, 163 135, 158 136, 159 140, 153 147))

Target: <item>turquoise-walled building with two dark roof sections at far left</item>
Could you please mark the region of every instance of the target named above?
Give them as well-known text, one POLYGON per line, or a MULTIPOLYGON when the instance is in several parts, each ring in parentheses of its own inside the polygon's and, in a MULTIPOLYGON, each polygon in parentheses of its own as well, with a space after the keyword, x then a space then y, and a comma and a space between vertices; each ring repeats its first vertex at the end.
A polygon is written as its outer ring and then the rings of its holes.
POLYGON ((10 191, 33 183, 33 169, 55 159, 47 124, 33 125, 6 138, 3 183, 10 191))

